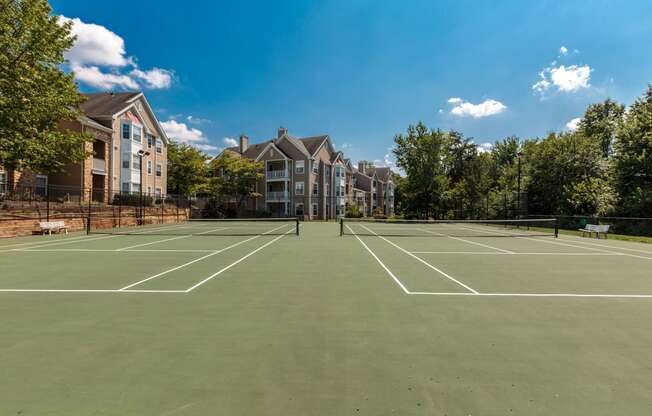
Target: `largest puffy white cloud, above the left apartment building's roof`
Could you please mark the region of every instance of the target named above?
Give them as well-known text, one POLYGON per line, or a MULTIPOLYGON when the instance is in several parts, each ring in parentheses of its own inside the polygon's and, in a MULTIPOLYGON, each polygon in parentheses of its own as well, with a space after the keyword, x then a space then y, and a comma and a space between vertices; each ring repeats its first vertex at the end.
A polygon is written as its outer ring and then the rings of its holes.
POLYGON ((172 85, 172 71, 141 70, 136 59, 127 55, 124 39, 106 27, 66 16, 59 16, 59 22, 72 24, 76 40, 65 57, 79 82, 101 89, 162 89, 172 85))

